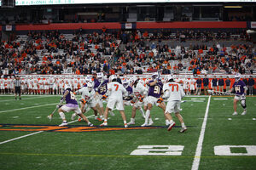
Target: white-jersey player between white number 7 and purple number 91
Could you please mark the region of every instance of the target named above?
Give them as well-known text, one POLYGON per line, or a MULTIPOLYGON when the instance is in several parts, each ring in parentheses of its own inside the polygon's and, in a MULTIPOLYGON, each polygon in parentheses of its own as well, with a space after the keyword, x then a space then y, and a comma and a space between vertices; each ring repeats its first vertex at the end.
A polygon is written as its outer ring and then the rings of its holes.
POLYGON ((145 117, 144 111, 143 111, 143 105, 144 105, 144 98, 148 95, 148 88, 145 88, 143 84, 140 82, 140 79, 137 77, 133 77, 131 79, 131 87, 133 89, 133 105, 131 110, 131 122, 128 122, 128 125, 135 124, 135 116, 136 111, 141 111, 143 117, 145 117))

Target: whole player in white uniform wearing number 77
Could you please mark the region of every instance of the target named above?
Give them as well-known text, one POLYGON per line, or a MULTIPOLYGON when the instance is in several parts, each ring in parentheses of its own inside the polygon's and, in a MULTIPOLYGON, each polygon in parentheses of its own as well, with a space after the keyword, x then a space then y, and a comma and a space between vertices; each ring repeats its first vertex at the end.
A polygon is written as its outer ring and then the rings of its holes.
POLYGON ((182 111, 180 109, 181 99, 185 96, 185 93, 183 92, 183 87, 178 84, 177 82, 173 81, 172 75, 168 75, 166 77, 166 83, 163 87, 164 94, 162 96, 163 99, 167 99, 167 105, 166 105, 166 118, 170 121, 170 126, 168 127, 168 131, 172 129, 172 127, 175 125, 175 122, 172 120, 171 113, 174 112, 175 116, 177 116, 177 119, 179 122, 181 122, 182 129, 179 131, 180 133, 183 133, 187 130, 187 127, 185 126, 183 122, 183 117, 180 115, 179 111, 182 111))

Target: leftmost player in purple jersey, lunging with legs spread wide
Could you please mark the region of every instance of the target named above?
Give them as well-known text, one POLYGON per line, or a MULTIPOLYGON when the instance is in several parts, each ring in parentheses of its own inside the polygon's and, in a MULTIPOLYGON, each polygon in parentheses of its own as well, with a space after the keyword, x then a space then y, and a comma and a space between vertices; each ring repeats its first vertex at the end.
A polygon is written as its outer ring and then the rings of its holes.
POLYGON ((62 101, 66 101, 66 105, 57 105, 57 107, 60 107, 58 112, 61 116, 61 119, 63 122, 59 125, 60 127, 67 126, 67 119, 65 117, 64 112, 74 111, 77 115, 82 117, 84 119, 84 122, 88 123, 88 126, 92 127, 93 124, 87 119, 86 116, 82 113, 82 111, 79 108, 79 104, 75 98, 75 94, 71 91, 71 87, 69 85, 66 85, 63 97, 61 99, 62 101))

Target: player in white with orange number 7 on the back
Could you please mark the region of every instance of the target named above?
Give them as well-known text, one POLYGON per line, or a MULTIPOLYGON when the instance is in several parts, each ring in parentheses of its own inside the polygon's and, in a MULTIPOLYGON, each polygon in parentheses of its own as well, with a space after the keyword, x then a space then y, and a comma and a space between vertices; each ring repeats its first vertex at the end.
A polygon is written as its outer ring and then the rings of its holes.
POLYGON ((108 104, 104 112, 104 122, 101 126, 108 126, 108 111, 113 110, 113 107, 116 105, 116 109, 120 112, 123 118, 125 127, 128 127, 123 101, 123 96, 127 95, 127 91, 122 84, 117 82, 117 77, 115 75, 112 75, 109 79, 111 82, 108 84, 108 104))

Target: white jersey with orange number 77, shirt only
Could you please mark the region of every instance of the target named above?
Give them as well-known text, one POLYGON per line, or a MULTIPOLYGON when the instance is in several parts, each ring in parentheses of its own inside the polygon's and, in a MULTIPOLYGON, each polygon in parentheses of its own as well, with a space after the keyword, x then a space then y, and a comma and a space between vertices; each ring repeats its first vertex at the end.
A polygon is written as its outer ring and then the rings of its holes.
POLYGON ((165 92, 163 98, 168 98, 168 101, 181 101, 185 96, 183 87, 177 82, 167 82, 164 84, 163 91, 165 92))

